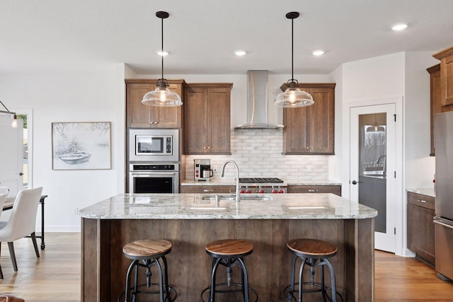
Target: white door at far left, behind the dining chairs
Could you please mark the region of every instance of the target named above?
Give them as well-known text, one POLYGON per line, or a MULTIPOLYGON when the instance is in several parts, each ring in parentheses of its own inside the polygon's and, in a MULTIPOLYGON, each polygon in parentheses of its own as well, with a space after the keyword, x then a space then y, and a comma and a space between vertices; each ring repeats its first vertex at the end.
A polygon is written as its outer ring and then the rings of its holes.
POLYGON ((11 127, 11 117, 0 115, 0 186, 16 196, 23 187, 23 121, 11 127))

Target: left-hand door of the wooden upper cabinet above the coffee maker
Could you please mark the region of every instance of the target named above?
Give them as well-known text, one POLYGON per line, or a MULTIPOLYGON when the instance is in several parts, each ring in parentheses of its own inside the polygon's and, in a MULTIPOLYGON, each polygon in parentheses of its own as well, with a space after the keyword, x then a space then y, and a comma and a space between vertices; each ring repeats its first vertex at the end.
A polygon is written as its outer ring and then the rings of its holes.
POLYGON ((205 88, 187 88, 184 101, 184 153, 204 153, 207 133, 207 91, 205 88))

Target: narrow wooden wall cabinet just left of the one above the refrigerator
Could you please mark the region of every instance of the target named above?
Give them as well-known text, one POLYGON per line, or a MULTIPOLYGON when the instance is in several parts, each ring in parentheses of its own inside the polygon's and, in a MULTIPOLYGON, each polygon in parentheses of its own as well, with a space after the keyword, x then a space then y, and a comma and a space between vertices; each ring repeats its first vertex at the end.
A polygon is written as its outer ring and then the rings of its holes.
POLYGON ((442 90, 440 83, 440 64, 426 69, 430 74, 430 108, 431 108, 431 152, 435 156, 435 115, 442 112, 442 90))

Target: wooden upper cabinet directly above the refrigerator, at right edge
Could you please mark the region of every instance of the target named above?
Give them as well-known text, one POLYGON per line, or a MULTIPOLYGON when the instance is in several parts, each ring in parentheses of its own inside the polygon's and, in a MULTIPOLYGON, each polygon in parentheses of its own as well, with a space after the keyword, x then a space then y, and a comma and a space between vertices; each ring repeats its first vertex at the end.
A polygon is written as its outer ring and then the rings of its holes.
POLYGON ((453 111, 453 46, 433 54, 440 59, 440 90, 442 112, 453 111))

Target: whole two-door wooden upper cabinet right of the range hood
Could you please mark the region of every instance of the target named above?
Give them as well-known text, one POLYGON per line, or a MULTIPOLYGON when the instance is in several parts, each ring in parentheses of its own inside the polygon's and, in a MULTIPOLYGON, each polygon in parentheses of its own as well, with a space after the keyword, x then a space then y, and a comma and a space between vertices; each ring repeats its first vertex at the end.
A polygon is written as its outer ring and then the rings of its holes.
MULTIPOLYGON (((299 83, 314 105, 283 109, 283 154, 334 154, 335 85, 299 83)), ((280 87, 286 88, 286 83, 280 87)))

